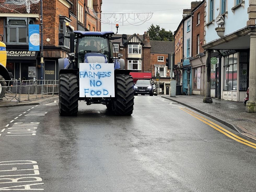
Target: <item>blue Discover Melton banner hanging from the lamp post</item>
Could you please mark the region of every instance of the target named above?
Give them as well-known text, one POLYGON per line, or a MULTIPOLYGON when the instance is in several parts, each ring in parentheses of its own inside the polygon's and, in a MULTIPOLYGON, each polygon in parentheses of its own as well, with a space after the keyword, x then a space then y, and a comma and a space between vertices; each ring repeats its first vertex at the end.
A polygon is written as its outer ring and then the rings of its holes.
POLYGON ((28 25, 28 50, 40 50, 39 25, 28 25))

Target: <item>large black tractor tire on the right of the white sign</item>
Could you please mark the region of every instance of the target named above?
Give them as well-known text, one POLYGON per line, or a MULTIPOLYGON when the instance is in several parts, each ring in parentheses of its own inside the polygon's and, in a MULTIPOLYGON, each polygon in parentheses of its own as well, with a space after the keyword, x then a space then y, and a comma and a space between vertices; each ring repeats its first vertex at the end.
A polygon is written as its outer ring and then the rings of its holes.
POLYGON ((134 88, 131 75, 115 75, 115 100, 112 101, 116 115, 131 115, 134 105, 134 88))

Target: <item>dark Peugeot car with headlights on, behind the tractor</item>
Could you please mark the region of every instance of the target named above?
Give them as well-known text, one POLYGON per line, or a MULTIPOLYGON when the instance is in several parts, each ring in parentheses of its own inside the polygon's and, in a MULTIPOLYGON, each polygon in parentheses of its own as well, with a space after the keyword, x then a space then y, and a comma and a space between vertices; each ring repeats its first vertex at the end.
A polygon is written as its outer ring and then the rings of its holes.
POLYGON ((153 96, 153 85, 150 80, 139 79, 134 85, 134 95, 153 96))

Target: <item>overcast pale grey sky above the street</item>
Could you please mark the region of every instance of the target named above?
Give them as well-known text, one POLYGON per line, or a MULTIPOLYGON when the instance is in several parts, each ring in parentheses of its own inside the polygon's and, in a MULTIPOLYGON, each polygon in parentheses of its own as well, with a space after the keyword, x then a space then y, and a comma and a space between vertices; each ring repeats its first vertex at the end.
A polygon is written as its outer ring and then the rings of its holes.
MULTIPOLYGON (((102 0, 102 13, 131 13, 131 11, 136 13, 153 13, 152 18, 142 25, 133 26, 127 25, 129 23, 136 23, 139 20, 134 20, 134 14, 130 14, 128 21, 124 22, 126 26, 122 26, 119 23, 119 34, 133 34, 139 33, 143 34, 144 31, 148 30, 148 27, 153 23, 154 25, 160 25, 160 28, 165 28, 166 30, 171 30, 174 32, 179 23, 182 20, 182 9, 188 9, 191 7, 191 0, 102 0), (169 9, 169 10, 167 10, 169 9), (171 9, 171 10, 170 10, 171 9)), ((105 15, 106 16, 106 15, 105 15)), ((126 14, 126 17, 128 15, 126 14)), ((145 14, 140 15, 141 17, 145 14)), ((106 18, 108 18, 107 16, 106 18)), ((115 20, 120 19, 119 14, 115 18, 110 18, 109 20, 113 23, 115 20)), ((114 31, 116 32, 115 25, 101 24, 101 31, 114 31)))

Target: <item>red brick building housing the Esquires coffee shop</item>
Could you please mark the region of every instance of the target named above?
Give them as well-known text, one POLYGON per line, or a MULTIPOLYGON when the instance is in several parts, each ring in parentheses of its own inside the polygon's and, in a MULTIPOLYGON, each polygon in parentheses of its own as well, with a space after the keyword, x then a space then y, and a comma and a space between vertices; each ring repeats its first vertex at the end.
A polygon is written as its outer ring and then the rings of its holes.
MULTIPOLYGON (((0 8, 0 34, 4 37, 3 42, 6 44, 8 53, 8 71, 13 73, 15 79, 40 80, 40 51, 29 50, 28 38, 28 25, 40 24, 40 3, 31 4, 29 14, 25 6, 15 8, 16 11, 14 11, 7 9, 12 8, 11 2, 0 0, 0 3, 5 5, 0 8)), ((44 79, 58 80, 58 59, 66 57, 69 51, 69 39, 66 39, 63 46, 59 46, 58 40, 58 33, 65 35, 68 33, 66 23, 69 23, 74 30, 88 31, 87 23, 91 23, 91 31, 100 30, 96 11, 101 12, 102 0, 94 0, 94 3, 95 6, 92 0, 43 1, 44 79), (89 10, 89 13, 86 10, 89 10)), ((37 44, 41 45, 41 39, 37 44)))

